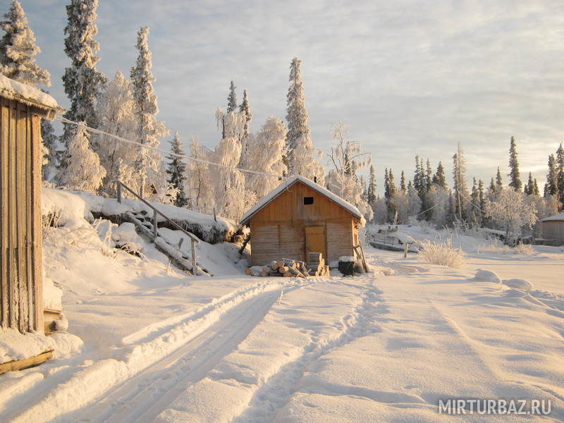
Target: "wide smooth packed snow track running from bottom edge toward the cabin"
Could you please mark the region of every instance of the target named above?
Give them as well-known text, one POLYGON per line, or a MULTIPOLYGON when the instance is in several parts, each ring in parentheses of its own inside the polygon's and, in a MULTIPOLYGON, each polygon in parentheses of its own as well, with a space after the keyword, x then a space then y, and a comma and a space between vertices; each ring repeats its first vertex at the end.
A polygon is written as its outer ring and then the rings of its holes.
POLYGON ((278 295, 277 292, 264 293, 233 307, 207 331, 70 419, 77 422, 152 422, 188 385, 202 379, 223 356, 237 348, 262 320, 278 295))

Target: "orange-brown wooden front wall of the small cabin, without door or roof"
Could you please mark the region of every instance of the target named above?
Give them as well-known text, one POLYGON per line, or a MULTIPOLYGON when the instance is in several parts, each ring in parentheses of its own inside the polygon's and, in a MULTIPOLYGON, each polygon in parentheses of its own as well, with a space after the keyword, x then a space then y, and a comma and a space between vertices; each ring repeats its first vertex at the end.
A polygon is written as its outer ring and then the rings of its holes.
POLYGON ((357 217, 298 181, 250 218, 252 265, 281 258, 306 261, 307 226, 325 228, 328 264, 354 255, 357 217), (313 204, 304 204, 304 197, 313 197, 313 204))

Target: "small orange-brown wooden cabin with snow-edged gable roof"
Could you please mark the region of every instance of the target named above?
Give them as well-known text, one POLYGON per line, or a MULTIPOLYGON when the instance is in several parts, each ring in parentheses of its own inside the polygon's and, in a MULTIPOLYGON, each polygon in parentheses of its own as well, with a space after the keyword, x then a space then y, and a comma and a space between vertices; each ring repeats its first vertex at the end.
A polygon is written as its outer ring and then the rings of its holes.
POLYGON ((321 252, 327 264, 355 256, 364 218, 358 209, 303 176, 293 176, 241 219, 250 227, 252 265, 282 258, 307 262, 321 252))

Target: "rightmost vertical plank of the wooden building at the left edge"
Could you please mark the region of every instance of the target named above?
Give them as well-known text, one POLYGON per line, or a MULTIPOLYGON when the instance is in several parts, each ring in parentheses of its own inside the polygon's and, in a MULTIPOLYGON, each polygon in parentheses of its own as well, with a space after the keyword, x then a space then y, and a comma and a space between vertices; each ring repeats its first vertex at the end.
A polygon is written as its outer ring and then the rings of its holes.
POLYGON ((32 149, 32 271, 34 293, 34 319, 33 326, 36 331, 43 329, 43 228, 41 225, 41 118, 32 117, 31 123, 32 149))

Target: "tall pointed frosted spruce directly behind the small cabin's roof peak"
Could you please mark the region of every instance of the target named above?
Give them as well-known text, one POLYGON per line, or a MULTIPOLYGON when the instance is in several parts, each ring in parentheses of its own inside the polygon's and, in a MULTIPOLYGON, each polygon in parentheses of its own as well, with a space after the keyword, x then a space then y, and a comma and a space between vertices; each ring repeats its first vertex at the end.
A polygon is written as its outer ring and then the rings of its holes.
POLYGON ((311 180, 317 179, 319 185, 324 185, 325 171, 319 164, 321 152, 314 148, 309 133, 309 117, 305 109, 304 85, 302 81, 301 63, 297 57, 290 63, 290 87, 286 96, 286 165, 290 175, 302 175, 311 180))

